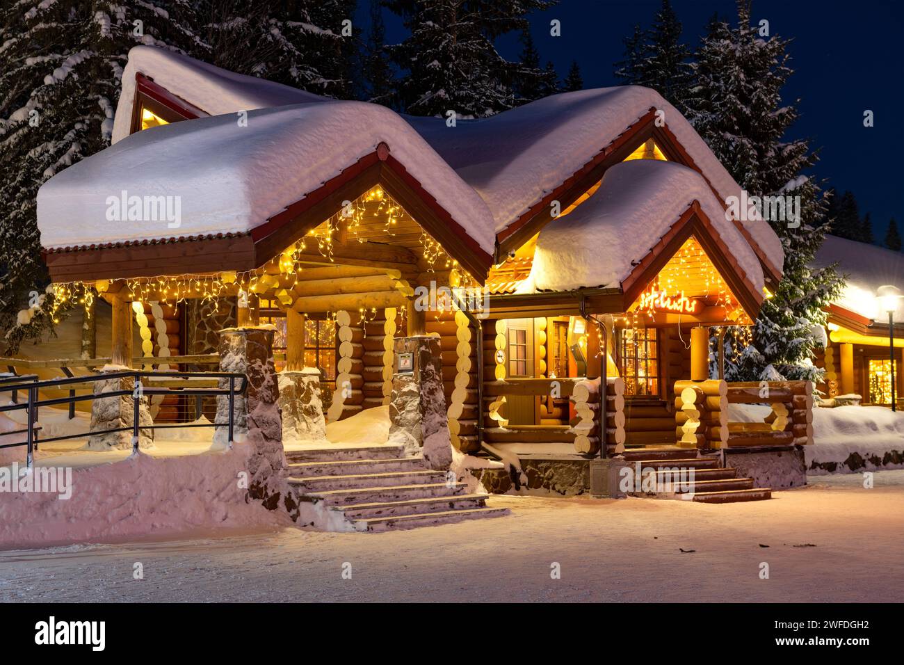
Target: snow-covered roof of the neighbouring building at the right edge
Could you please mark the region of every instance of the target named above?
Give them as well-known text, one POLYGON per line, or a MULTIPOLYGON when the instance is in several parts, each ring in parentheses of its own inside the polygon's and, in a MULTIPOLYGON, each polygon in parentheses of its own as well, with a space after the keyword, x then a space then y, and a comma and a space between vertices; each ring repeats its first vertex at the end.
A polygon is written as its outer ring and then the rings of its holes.
MULTIPOLYGON (((833 263, 838 263, 837 271, 847 276, 842 295, 834 304, 862 317, 885 321, 888 315, 880 309, 876 290, 886 284, 904 290, 904 254, 826 235, 813 265, 823 268, 833 263)), ((899 304, 895 318, 904 318, 904 302, 899 304)))

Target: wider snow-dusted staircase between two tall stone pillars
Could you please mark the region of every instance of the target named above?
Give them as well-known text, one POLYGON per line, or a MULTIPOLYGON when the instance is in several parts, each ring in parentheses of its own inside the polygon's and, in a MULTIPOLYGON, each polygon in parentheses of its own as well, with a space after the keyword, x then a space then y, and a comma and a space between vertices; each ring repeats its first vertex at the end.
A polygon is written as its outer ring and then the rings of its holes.
MULTIPOLYGON (((487 495, 429 470, 397 446, 286 451, 288 484, 299 504, 325 510, 337 530, 385 531, 495 518, 487 495)), ((333 529, 331 529, 333 530, 333 529)))

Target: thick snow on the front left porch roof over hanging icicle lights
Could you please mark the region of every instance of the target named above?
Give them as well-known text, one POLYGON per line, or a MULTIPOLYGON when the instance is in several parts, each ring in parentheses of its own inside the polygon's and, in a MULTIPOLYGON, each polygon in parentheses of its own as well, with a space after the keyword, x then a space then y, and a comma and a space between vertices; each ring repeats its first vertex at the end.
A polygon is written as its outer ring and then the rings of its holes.
MULTIPOLYGON (((45 248, 248 233, 315 192, 386 143, 404 166, 487 253, 493 216, 410 126, 390 109, 318 101, 146 129, 52 177, 38 192, 45 248), (109 197, 169 196, 167 220, 111 221, 109 197)), ((114 216, 116 211, 113 212, 114 216)))

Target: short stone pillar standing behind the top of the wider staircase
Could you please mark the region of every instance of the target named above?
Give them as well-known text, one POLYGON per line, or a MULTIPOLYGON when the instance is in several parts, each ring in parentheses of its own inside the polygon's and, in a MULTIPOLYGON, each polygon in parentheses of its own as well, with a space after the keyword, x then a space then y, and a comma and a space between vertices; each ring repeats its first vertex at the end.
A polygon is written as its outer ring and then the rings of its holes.
POLYGON ((283 443, 326 442, 320 370, 305 367, 300 371, 285 370, 278 376, 283 443))

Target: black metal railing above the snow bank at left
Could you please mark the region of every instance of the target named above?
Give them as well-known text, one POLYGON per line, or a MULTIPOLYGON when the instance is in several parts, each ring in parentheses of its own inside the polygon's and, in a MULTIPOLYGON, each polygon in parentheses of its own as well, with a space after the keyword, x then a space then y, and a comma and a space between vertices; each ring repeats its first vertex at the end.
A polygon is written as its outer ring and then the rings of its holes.
MULTIPOLYGON (((173 428, 189 428, 189 427, 227 427, 229 432, 230 445, 233 440, 235 431, 234 423, 234 406, 235 397, 238 394, 244 394, 248 387, 248 379, 245 375, 234 372, 149 372, 142 370, 124 370, 120 372, 104 372, 96 375, 86 376, 67 376, 65 378, 48 379, 45 381, 38 380, 36 375, 13 375, 0 377, 0 393, 18 394, 22 391, 28 394, 28 400, 23 404, 13 402, 5 406, 0 406, 0 413, 11 411, 27 412, 26 425, 23 430, 14 430, 13 432, 0 432, 0 437, 12 434, 26 434, 24 442, 0 444, 0 449, 14 448, 16 446, 27 446, 26 461, 28 468, 33 467, 34 451, 38 449, 39 443, 48 443, 54 441, 64 441, 67 439, 82 439, 88 436, 99 436, 115 432, 132 432, 132 451, 138 450, 139 432, 141 430, 159 430, 173 428), (111 390, 106 393, 95 394, 92 390, 90 394, 75 394, 74 386, 84 384, 93 385, 98 381, 108 381, 111 379, 131 378, 135 383, 132 390, 111 390), (212 388, 212 387, 172 387, 172 380, 184 379, 186 385, 191 379, 228 379, 228 388, 212 388), (142 380, 145 380, 144 382, 142 380), (170 386, 153 385, 155 379, 169 379, 170 386), (240 387, 236 387, 236 381, 240 381, 240 387), (41 399, 39 391, 60 388, 68 386, 69 394, 65 397, 52 397, 41 399), (38 423, 38 409, 42 406, 56 406, 60 404, 68 404, 70 413, 74 413, 74 404, 76 402, 93 401, 96 399, 107 399, 110 397, 121 397, 125 395, 133 396, 132 424, 127 427, 114 427, 107 430, 97 430, 89 432, 80 432, 78 434, 64 434, 61 436, 45 437, 39 440, 38 432, 40 427, 38 423), (229 398, 229 420, 227 423, 175 423, 175 424, 142 424, 140 423, 140 397, 145 395, 183 395, 183 396, 226 396, 229 398)), ((2 438, 0 438, 2 441, 2 438)))

